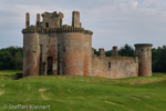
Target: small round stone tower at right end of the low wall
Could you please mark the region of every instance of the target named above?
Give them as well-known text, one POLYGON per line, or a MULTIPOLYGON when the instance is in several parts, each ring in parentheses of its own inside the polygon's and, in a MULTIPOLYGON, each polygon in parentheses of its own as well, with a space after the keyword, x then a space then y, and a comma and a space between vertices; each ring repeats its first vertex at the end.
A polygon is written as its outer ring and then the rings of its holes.
POLYGON ((149 43, 137 43, 135 46, 136 56, 138 57, 138 75, 152 75, 152 47, 149 43))

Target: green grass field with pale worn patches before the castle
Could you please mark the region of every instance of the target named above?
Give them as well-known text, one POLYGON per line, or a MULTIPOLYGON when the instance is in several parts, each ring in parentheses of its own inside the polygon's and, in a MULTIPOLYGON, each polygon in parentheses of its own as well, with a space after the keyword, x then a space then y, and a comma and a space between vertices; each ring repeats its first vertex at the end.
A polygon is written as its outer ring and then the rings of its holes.
POLYGON ((46 111, 48 105, 48 111, 166 111, 165 73, 114 80, 81 75, 12 80, 14 72, 20 71, 0 71, 0 111, 18 104, 45 107, 31 111, 46 111))

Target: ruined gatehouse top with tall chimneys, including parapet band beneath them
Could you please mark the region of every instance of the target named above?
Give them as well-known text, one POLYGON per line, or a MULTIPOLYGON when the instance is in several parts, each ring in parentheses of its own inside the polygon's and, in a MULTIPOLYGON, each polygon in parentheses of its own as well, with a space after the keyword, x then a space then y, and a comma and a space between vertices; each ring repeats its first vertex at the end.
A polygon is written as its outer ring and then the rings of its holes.
POLYGON ((43 21, 40 21, 40 13, 37 13, 35 26, 30 26, 30 13, 25 13, 25 29, 22 33, 50 33, 50 32, 83 32, 85 34, 93 34, 90 30, 84 30, 82 23, 80 22, 80 12, 73 11, 72 13, 72 26, 62 23, 64 14, 62 12, 44 12, 41 14, 43 21))

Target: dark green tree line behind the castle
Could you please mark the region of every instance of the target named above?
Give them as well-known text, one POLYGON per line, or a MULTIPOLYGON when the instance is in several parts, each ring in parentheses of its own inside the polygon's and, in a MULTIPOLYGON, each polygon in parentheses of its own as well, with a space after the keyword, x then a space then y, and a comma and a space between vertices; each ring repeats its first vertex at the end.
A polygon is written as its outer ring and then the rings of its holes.
MULTIPOLYGON (((98 56, 98 51, 94 49, 98 56)), ((118 54, 122 57, 135 57, 135 49, 128 44, 120 48, 118 54)), ((112 50, 105 51, 106 57, 112 56, 112 50)), ((0 70, 22 70, 23 68, 23 48, 9 47, 0 49, 0 70)), ((166 72, 166 47, 152 49, 153 72, 166 72)))

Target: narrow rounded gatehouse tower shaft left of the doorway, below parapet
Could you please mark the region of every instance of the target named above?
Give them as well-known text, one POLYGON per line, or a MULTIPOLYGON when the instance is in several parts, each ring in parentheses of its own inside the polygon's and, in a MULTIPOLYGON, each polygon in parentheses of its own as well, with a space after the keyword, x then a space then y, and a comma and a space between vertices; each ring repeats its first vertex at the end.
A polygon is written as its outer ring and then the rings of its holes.
POLYGON ((38 33, 23 34, 23 77, 39 75, 40 47, 38 33))

